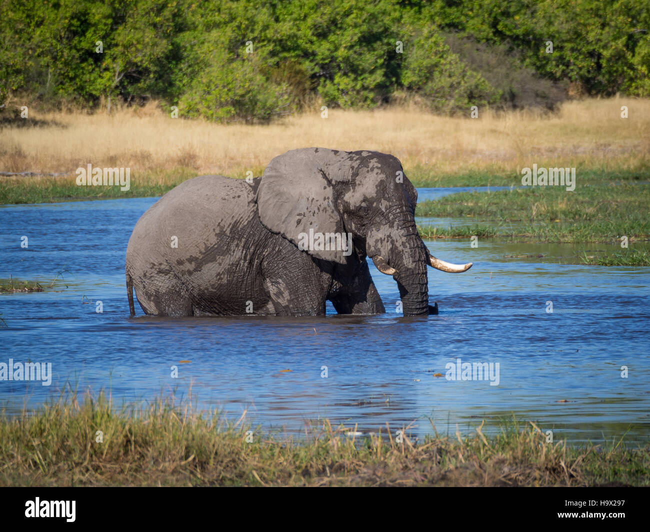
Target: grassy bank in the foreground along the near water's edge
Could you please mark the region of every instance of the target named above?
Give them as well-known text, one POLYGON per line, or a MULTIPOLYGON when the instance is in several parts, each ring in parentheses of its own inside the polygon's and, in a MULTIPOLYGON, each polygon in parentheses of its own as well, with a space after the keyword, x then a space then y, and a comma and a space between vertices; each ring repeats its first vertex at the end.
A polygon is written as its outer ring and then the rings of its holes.
MULTIPOLYGON (((396 427, 392 427, 393 432, 396 427)), ((277 439, 157 401, 114 412, 75 396, 0 419, 0 485, 649 485, 650 449, 547 443, 534 424, 471 438, 346 436, 313 426, 277 439), (101 431, 101 442, 98 442, 101 431)), ((387 431, 383 429, 383 435, 387 431)))

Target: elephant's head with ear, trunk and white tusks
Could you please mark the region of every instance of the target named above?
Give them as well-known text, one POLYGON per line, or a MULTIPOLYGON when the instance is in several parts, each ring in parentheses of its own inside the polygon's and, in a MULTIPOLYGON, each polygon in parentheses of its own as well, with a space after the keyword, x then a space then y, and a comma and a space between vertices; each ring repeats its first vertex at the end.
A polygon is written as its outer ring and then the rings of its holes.
POLYGON ((404 316, 429 312, 427 266, 445 272, 472 266, 430 255, 415 227, 416 203, 399 160, 376 151, 294 149, 270 162, 257 190, 261 222, 313 257, 345 264, 352 250, 331 235, 352 234, 359 258, 369 256, 397 281, 404 316))

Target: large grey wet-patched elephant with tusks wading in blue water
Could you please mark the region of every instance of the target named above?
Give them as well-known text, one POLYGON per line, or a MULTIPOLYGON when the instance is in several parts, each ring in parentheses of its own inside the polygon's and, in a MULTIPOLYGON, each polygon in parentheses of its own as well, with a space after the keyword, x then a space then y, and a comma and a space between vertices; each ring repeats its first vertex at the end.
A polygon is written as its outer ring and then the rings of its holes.
POLYGON ((202 175, 161 197, 138 220, 126 252, 133 290, 155 316, 380 314, 366 258, 392 275, 404 316, 437 314, 415 226, 417 191, 400 161, 376 151, 294 149, 262 177, 202 175))

